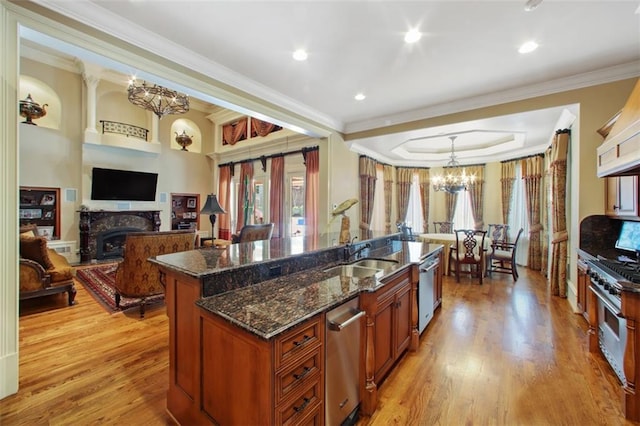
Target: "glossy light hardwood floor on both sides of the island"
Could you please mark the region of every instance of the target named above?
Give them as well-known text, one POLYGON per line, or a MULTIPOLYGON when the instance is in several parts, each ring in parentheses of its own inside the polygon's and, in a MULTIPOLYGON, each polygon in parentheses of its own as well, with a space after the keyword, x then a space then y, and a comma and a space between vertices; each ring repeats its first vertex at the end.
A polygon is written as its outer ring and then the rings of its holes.
MULTIPOLYGON (((364 425, 617 425, 622 389, 587 352, 587 324, 544 279, 445 278, 444 302, 382 383, 364 425)), ((108 314, 78 285, 22 304, 20 390, 0 401, 0 425, 168 425, 164 307, 108 314)), ((241 396, 239 396, 241 397, 241 396)))

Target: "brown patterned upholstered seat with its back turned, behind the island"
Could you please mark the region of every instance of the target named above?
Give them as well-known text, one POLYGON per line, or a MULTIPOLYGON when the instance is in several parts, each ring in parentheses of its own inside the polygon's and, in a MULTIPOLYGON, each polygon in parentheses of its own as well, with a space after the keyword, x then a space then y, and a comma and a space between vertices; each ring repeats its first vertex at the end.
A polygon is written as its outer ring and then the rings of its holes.
POLYGON ((140 298, 140 317, 144 318, 146 298, 164 293, 158 266, 147 259, 161 254, 193 250, 195 240, 194 230, 127 234, 123 260, 116 270, 116 306, 120 306, 121 297, 140 298))

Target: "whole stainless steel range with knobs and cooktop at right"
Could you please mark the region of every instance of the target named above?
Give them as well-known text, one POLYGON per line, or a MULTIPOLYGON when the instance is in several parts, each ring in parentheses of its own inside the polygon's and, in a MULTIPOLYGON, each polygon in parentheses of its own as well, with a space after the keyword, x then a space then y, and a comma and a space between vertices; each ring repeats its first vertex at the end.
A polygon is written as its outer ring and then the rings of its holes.
POLYGON ((635 262, 620 262, 600 256, 586 263, 591 277, 589 288, 598 299, 598 345, 620 381, 625 384, 627 321, 622 315, 621 294, 624 286, 640 284, 640 269, 635 262))

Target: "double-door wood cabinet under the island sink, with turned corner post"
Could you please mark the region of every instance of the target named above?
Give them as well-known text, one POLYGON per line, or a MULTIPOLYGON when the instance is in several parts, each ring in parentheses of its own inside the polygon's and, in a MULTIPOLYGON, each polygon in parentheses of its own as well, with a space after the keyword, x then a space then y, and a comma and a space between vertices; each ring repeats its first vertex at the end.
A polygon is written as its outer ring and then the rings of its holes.
MULTIPOLYGON (((413 265, 415 266, 415 265, 413 265)), ((361 386, 362 412, 371 415, 377 406, 377 385, 409 348, 417 333, 417 306, 414 300, 417 282, 406 268, 385 282, 376 292, 362 293, 360 306, 366 312, 363 339, 365 381, 361 386)))

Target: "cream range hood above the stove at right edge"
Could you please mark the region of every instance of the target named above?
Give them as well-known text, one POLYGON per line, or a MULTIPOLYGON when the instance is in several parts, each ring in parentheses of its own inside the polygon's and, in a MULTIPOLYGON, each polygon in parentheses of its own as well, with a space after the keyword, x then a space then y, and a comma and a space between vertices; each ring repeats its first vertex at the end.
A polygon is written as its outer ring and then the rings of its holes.
POLYGON ((640 175, 640 79, 597 152, 598 177, 640 175))

